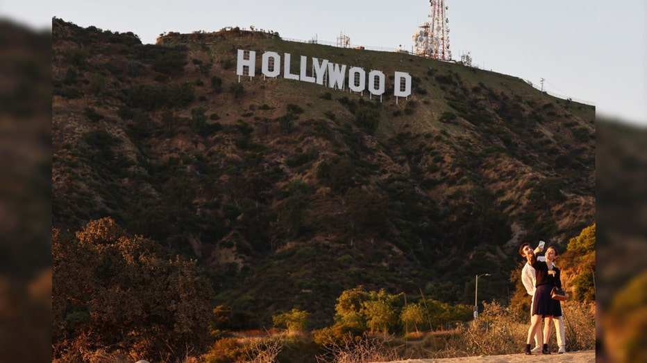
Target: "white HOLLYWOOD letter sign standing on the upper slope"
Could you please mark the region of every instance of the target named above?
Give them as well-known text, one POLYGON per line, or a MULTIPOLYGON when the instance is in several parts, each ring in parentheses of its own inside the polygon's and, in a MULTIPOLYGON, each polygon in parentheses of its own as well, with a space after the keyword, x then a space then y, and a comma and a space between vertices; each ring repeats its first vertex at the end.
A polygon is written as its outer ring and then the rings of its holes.
MULTIPOLYGON (((348 67, 346 64, 336 64, 328 60, 319 60, 312 57, 308 67, 308 57, 301 55, 301 63, 297 73, 292 73, 290 67, 291 55, 283 53, 283 69, 281 69, 281 56, 273 51, 264 52, 261 57, 261 73, 264 77, 276 78, 283 71, 283 78, 300 80, 301 82, 317 83, 333 89, 344 89, 344 81, 348 76, 348 89, 355 92, 368 90, 371 95, 382 96, 385 92, 385 75, 382 71, 371 70, 368 73, 361 67, 348 67), (310 69, 311 76, 308 76, 310 69), (326 82, 327 80, 327 82, 326 82)), ((239 76, 255 76, 256 52, 238 49, 236 74, 239 76)), ((393 95, 408 97, 411 94, 411 76, 406 72, 394 72, 393 95)))

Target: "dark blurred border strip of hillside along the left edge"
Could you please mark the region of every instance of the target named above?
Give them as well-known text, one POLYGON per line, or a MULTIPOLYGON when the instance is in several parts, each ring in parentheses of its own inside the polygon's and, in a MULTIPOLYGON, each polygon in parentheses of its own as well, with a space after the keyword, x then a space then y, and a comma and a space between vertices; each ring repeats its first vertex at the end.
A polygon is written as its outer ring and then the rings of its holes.
POLYGON ((51 360, 51 31, 0 15, 0 362, 51 360))

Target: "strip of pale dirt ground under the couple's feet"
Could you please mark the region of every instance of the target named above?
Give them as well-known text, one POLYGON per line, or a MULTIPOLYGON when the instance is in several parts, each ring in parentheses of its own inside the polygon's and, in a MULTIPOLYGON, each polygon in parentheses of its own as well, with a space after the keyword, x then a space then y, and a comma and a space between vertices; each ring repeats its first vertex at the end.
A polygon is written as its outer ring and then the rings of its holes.
POLYGON ((396 360, 394 362, 379 363, 528 363, 528 362, 569 362, 569 363, 594 363, 596 351, 566 352, 564 354, 533 354, 532 356, 519 354, 509 355, 478 355, 476 357, 444 358, 429 360, 396 360))

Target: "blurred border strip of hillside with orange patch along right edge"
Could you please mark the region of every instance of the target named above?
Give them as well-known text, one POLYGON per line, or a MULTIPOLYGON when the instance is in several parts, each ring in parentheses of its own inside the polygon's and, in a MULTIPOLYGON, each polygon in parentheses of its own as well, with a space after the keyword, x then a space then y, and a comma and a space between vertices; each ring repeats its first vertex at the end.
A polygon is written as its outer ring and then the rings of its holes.
POLYGON ((596 119, 597 360, 647 362, 647 127, 596 119))

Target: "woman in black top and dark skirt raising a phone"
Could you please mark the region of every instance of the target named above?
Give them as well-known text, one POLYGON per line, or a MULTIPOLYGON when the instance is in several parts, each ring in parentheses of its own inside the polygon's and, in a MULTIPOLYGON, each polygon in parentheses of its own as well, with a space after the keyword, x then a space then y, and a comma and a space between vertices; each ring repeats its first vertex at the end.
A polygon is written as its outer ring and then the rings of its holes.
MULTIPOLYGON (((557 272, 553 268, 553 263, 548 264, 545 261, 537 260, 536 254, 543 249, 543 247, 537 247, 537 249, 533 250, 529 243, 523 243, 519 248, 519 254, 526 257, 528 265, 535 269, 535 281, 537 281, 535 283, 535 298, 532 300, 532 317, 530 318, 528 339, 526 339, 525 353, 528 355, 532 354, 530 352, 530 344, 532 337, 537 330, 537 326, 541 324, 541 319, 553 319, 553 314, 555 314, 555 303, 553 303, 551 291, 553 290, 553 286, 555 286, 555 276, 557 275, 557 272)), ((544 346, 541 353, 551 354, 551 352, 548 351, 548 344, 546 344, 546 342, 548 342, 548 336, 546 333, 548 332, 544 330, 544 346)))

